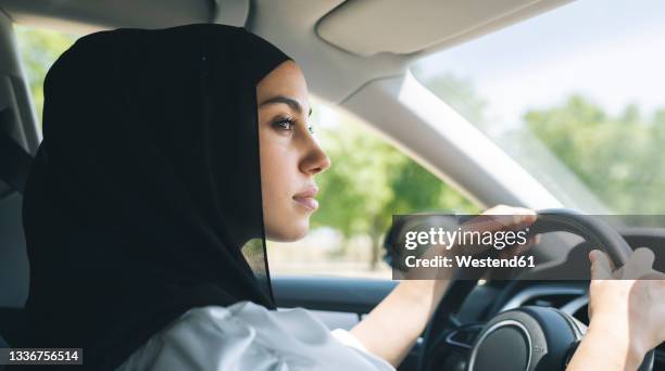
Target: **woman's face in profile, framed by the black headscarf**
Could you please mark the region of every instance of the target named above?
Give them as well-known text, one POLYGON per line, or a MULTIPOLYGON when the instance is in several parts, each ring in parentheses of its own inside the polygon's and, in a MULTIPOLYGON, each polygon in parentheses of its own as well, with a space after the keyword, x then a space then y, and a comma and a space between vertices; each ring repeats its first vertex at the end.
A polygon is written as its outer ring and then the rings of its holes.
POLYGON ((300 67, 281 63, 256 86, 261 189, 266 238, 296 241, 318 204, 314 176, 330 167, 311 132, 308 86, 300 67))

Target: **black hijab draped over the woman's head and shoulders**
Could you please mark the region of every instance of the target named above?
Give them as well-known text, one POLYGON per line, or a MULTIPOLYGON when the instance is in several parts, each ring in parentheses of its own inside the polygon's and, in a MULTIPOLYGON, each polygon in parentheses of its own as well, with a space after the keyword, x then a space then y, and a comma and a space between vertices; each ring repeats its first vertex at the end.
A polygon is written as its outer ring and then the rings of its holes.
POLYGON ((111 370, 189 308, 275 308, 255 88, 287 60, 200 24, 92 34, 54 63, 24 199, 25 346, 111 370))

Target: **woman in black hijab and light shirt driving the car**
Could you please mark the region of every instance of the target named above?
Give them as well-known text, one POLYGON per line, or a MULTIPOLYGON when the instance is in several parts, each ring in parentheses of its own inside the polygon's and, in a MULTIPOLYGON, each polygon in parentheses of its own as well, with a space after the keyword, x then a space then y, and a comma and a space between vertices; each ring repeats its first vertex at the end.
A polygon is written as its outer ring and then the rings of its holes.
MULTIPOLYGON (((45 98, 24 201, 28 346, 81 347, 89 370, 392 370, 447 289, 404 281, 350 332, 272 310, 264 238, 306 233, 330 161, 298 65, 243 28, 86 36, 50 69, 45 98)), ((535 219, 488 212, 502 213, 535 219)), ((658 290, 638 304, 662 302, 658 290)), ((593 329, 601 309, 641 323, 608 296, 592 286, 593 329)), ((639 358, 663 340, 663 316, 653 321, 639 348, 632 333, 614 337, 639 358)))

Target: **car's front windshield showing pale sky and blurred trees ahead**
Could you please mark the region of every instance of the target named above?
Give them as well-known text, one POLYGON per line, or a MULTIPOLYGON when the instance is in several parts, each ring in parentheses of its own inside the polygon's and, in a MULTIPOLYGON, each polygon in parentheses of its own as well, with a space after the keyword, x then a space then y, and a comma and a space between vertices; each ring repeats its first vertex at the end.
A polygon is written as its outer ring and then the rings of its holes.
POLYGON ((663 20, 661 0, 573 2, 412 72, 564 206, 663 213, 663 20))

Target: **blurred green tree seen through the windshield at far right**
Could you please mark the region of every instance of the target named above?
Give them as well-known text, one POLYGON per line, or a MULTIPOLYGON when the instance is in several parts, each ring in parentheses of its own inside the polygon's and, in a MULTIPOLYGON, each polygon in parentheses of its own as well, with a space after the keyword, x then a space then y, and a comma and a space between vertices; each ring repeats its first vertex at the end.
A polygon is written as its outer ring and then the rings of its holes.
POLYGON ((665 209, 665 176, 658 171, 664 118, 664 110, 647 117, 635 104, 611 116, 580 95, 524 116, 532 133, 613 209, 655 214, 665 209))

